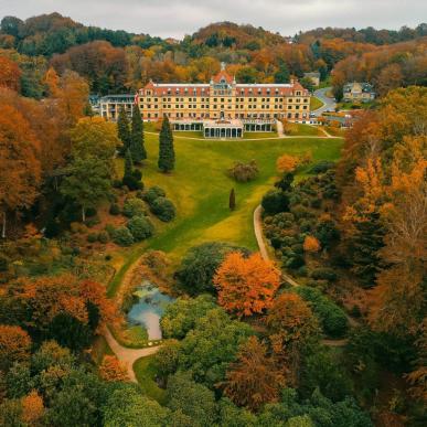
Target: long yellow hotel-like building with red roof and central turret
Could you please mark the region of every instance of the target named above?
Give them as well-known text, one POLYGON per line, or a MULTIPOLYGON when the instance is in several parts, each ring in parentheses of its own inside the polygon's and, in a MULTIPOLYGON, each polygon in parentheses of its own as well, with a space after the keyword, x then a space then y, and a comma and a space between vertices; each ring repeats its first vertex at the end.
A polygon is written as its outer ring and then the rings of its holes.
POLYGON ((310 93, 288 84, 239 84, 221 72, 210 83, 149 82, 134 95, 105 96, 102 116, 117 120, 121 106, 138 104, 145 121, 168 116, 174 130, 199 130, 206 138, 241 138, 244 131, 273 131, 276 120, 310 122, 310 93))

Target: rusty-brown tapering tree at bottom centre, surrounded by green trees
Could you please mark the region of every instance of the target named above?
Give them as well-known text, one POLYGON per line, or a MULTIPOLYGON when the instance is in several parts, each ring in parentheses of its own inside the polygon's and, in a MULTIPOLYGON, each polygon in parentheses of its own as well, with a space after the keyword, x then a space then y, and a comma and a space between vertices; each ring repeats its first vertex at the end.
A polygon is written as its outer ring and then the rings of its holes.
POLYGON ((285 385, 285 377, 267 348, 256 337, 250 337, 232 363, 222 383, 224 393, 236 405, 257 410, 266 403, 276 402, 285 385))

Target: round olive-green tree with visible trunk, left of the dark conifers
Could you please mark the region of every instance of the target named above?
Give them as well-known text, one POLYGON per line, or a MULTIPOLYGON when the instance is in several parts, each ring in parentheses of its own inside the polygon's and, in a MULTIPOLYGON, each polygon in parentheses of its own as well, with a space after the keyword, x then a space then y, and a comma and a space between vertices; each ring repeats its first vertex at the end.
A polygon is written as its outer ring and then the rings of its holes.
POLYGON ((96 207, 106 199, 111 189, 111 177, 105 161, 96 158, 76 159, 71 163, 71 173, 61 184, 61 193, 82 206, 82 221, 86 210, 96 207))

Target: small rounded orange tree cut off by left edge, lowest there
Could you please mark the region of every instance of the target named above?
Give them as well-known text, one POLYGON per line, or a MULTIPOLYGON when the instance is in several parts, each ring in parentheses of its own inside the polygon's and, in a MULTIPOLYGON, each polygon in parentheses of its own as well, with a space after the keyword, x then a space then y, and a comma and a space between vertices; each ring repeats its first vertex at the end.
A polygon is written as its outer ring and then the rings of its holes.
POLYGON ((31 338, 20 327, 0 324, 0 370, 30 357, 31 338))

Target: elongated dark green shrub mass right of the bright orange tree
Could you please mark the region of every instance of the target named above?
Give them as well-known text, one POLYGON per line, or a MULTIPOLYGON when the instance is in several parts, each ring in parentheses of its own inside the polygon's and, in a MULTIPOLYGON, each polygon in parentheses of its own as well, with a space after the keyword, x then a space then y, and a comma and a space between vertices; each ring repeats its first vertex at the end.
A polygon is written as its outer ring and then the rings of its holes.
POLYGON ((296 289, 319 318, 323 331, 332 338, 342 338, 348 328, 349 320, 345 312, 319 289, 300 286, 296 289))

